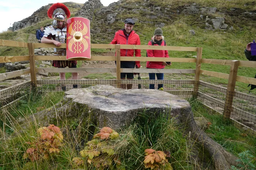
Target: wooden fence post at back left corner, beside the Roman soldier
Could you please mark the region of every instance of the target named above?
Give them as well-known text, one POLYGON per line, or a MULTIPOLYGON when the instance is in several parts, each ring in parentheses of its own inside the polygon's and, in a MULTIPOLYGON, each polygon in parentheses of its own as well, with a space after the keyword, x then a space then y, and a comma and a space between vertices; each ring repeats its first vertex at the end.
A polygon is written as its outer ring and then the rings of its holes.
POLYGON ((33 87, 37 86, 37 76, 35 72, 35 48, 34 43, 28 43, 29 46, 29 64, 30 64, 30 77, 33 87))

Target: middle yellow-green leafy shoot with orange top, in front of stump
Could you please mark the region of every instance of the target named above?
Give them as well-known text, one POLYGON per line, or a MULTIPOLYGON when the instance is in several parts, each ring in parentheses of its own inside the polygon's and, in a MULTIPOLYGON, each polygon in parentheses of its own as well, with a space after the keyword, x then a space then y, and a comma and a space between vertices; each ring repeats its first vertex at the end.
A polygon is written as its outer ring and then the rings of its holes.
POLYGON ((116 131, 109 127, 103 127, 99 133, 94 135, 94 139, 87 142, 87 146, 80 151, 82 158, 75 157, 72 161, 78 166, 83 166, 83 158, 86 158, 87 162, 98 170, 105 168, 125 170, 118 155, 114 152, 114 145, 112 145, 112 142, 118 137, 119 134, 116 131))

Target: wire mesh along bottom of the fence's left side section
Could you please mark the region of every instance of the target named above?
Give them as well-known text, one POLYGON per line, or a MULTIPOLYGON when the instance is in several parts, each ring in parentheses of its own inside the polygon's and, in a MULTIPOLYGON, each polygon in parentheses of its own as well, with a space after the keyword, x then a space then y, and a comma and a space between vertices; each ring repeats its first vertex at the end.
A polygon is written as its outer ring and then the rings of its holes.
POLYGON ((18 101, 30 91, 31 82, 25 82, 0 90, 0 108, 18 101))

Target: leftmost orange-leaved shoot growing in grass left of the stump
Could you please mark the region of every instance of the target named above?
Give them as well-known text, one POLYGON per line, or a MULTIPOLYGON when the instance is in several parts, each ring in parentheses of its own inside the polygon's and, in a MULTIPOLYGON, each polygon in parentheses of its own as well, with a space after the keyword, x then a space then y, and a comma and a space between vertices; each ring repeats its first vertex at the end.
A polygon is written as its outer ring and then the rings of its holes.
POLYGON ((23 154, 24 159, 29 158, 33 162, 41 158, 48 159, 49 155, 60 152, 63 135, 59 127, 50 124, 48 127, 40 127, 37 132, 40 137, 36 141, 27 142, 30 148, 23 154))

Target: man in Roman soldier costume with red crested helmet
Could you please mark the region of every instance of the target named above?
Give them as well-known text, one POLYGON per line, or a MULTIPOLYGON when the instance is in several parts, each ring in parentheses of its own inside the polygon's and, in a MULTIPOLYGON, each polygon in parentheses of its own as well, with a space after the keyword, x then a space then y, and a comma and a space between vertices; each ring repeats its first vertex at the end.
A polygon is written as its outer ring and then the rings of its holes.
MULTIPOLYGON (((44 37, 42 43, 54 44, 59 47, 61 44, 66 43, 67 33, 67 18, 70 16, 69 9, 62 3, 53 4, 48 9, 48 17, 53 18, 53 25, 45 27, 44 37)), ((66 55, 66 48, 54 48, 54 55, 66 55)), ((53 60, 52 66, 57 68, 76 68, 77 62, 75 60, 53 60)), ((78 73, 72 72, 72 79, 78 79, 78 73)), ((65 80, 65 72, 60 72, 60 80, 65 80)), ((63 91, 66 90, 66 86, 61 84, 63 91)), ((73 88, 77 88, 77 84, 73 84, 73 88)))

